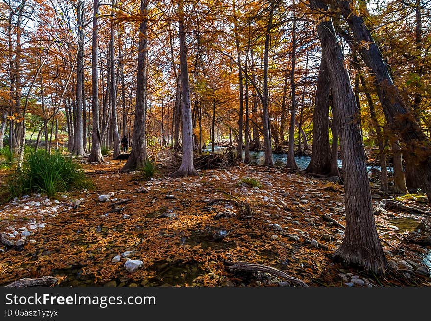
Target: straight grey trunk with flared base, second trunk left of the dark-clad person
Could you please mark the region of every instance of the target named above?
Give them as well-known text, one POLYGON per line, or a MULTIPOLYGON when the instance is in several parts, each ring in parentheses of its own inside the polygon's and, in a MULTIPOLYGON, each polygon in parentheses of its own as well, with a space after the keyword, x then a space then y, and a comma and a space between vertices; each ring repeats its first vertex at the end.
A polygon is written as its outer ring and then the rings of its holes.
POLYGON ((100 133, 99 120, 99 75, 98 75, 98 16, 99 16, 99 0, 93 0, 93 29, 92 29, 92 45, 91 45, 91 110, 93 114, 92 135, 91 135, 91 150, 88 157, 89 162, 101 163, 103 159, 100 144, 102 135, 100 133))

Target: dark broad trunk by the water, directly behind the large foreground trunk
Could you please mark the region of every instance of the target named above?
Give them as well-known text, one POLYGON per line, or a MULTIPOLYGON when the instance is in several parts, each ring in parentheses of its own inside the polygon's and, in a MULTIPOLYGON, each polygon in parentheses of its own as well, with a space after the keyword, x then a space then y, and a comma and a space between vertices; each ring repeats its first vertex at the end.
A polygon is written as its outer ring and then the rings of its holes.
POLYGON ((309 173, 326 175, 331 170, 328 117, 330 92, 329 70, 322 55, 313 112, 313 148, 310 163, 306 168, 309 173))

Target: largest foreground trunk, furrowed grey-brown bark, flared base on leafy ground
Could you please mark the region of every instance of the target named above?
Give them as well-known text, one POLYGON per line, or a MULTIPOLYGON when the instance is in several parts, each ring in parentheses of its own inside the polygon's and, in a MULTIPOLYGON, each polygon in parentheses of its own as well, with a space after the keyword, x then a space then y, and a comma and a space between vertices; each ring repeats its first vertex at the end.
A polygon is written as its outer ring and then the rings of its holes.
MULTIPOLYGON (((328 11, 328 6, 320 0, 309 2, 313 9, 328 11)), ((321 22, 317 25, 317 31, 331 78, 344 170, 346 231, 343 243, 333 257, 374 273, 383 273, 387 261, 374 221, 365 153, 357 118, 359 110, 332 20, 325 14, 320 14, 319 21, 321 22)))

